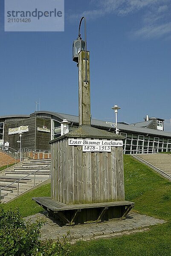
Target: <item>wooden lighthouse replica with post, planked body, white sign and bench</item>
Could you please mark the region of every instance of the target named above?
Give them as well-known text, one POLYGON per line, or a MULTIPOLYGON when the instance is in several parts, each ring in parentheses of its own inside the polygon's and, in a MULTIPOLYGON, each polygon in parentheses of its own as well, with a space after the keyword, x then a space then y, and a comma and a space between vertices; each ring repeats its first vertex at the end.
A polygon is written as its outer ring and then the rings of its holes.
POLYGON ((123 137, 91 127, 90 52, 77 54, 79 127, 50 142, 51 198, 33 198, 67 225, 125 218, 133 207, 125 201, 123 137))

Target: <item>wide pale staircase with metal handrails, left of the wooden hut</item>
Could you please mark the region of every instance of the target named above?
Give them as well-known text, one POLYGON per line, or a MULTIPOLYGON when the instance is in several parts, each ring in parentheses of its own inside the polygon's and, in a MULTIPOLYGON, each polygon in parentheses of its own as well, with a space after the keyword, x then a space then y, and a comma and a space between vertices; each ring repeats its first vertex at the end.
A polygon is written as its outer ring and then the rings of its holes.
POLYGON ((29 189, 32 189, 34 186, 48 180, 50 175, 50 163, 51 159, 25 159, 23 162, 17 163, 0 172, 0 189, 2 189, 1 202, 6 203, 29 189), (35 172, 35 174, 33 172, 35 172), (7 187, 4 188, 5 186, 7 187))

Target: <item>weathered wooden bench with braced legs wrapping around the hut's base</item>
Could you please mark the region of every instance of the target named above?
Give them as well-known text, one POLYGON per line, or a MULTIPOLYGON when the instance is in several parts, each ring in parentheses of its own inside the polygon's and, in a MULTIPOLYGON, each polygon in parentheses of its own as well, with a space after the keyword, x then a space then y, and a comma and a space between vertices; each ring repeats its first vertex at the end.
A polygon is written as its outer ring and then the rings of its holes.
POLYGON ((134 206, 134 203, 129 201, 67 205, 49 197, 32 199, 65 225, 125 219, 134 206))

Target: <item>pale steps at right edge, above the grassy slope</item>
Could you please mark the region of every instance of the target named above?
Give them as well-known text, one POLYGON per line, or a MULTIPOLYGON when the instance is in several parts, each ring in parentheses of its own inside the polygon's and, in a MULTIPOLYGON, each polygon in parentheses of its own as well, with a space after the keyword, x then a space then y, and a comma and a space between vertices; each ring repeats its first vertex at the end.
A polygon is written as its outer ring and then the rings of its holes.
POLYGON ((132 156, 171 180, 171 154, 134 154, 132 156))

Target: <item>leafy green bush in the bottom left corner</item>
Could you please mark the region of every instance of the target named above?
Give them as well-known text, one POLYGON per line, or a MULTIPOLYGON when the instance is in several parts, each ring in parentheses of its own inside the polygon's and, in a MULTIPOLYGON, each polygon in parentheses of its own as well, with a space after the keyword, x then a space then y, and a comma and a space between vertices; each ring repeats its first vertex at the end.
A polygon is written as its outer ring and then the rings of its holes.
POLYGON ((67 235, 63 240, 41 242, 41 227, 46 221, 25 222, 17 208, 5 211, 0 204, 0 255, 1 256, 68 256, 70 244, 67 235))

